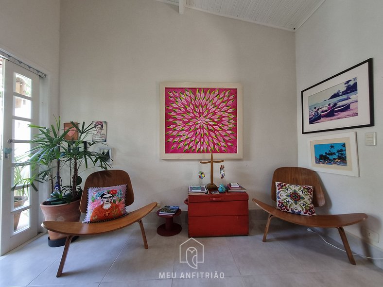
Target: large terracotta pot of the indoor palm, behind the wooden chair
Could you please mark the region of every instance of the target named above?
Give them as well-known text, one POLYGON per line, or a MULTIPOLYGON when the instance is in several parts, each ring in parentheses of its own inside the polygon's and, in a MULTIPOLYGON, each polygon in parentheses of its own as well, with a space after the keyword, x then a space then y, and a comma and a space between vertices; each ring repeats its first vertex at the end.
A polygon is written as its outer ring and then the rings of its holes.
MULTIPOLYGON (((76 200, 69 204, 58 205, 44 205, 40 203, 41 211, 44 214, 46 221, 79 221, 80 212, 80 200, 76 200)), ((65 234, 52 232, 48 230, 50 240, 57 240, 67 237, 65 234)))

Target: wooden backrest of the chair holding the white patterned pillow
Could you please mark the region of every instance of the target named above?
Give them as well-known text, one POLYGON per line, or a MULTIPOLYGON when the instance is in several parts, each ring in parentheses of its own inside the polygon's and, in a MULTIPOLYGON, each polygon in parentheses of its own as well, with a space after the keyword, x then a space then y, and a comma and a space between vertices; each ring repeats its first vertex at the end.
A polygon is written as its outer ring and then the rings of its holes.
POLYGON ((323 187, 319 181, 318 175, 311 169, 297 167, 283 167, 276 169, 271 183, 271 198, 273 201, 277 201, 277 192, 275 187, 275 182, 277 181, 285 184, 313 186, 314 206, 322 206, 325 204, 323 187))

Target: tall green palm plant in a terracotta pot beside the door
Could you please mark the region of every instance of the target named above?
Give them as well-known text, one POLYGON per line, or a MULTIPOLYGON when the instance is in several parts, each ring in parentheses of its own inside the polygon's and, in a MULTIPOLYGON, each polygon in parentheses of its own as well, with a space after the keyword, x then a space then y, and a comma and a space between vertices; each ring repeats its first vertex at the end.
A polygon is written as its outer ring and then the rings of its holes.
MULTIPOLYGON (((28 160, 18 165, 21 168, 30 166, 32 176, 20 179, 15 186, 22 184, 23 187, 32 186, 35 190, 36 182, 48 182, 50 186, 51 196, 40 204, 45 220, 78 221, 83 191, 79 173, 94 167, 110 167, 108 157, 90 148, 100 142, 87 142, 87 138, 95 131, 94 126, 86 126, 85 122, 81 126, 75 122, 70 124, 70 128, 64 130, 60 118, 56 118, 55 125, 50 127, 30 125, 38 133, 31 141, 33 148, 29 151, 28 160), (77 134, 76 137, 69 136, 73 132, 77 134)), ((49 232, 48 239, 50 246, 61 246, 65 242, 65 235, 49 232)))

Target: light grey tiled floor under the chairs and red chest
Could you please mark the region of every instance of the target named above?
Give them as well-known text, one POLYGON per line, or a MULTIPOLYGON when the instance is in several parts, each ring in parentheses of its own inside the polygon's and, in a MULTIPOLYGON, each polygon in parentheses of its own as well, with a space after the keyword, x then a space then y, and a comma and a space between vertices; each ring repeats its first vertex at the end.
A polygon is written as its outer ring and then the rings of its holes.
POLYGON ((349 264, 346 253, 302 226, 274 219, 269 240, 262 242, 264 224, 251 221, 249 236, 196 238, 204 245, 204 263, 196 270, 179 262, 187 225, 177 236, 163 237, 156 233, 158 224, 144 222, 147 250, 138 224, 80 237, 70 246, 60 278, 55 275, 63 247, 48 247, 44 235, 0 257, 0 287, 383 286, 383 270, 360 256, 356 266, 349 264))

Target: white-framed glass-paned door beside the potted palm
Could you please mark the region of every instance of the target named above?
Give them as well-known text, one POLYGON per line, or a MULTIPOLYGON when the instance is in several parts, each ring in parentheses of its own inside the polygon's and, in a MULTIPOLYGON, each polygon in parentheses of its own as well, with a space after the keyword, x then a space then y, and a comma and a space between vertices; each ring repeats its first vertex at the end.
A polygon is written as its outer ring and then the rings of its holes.
POLYGON ((39 76, 0 58, 1 81, 1 225, 0 255, 37 235, 38 195, 31 186, 12 187, 30 177, 26 161, 31 149, 32 129, 38 124, 39 76))

